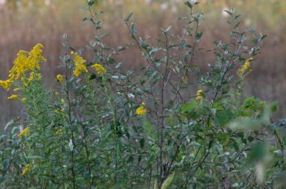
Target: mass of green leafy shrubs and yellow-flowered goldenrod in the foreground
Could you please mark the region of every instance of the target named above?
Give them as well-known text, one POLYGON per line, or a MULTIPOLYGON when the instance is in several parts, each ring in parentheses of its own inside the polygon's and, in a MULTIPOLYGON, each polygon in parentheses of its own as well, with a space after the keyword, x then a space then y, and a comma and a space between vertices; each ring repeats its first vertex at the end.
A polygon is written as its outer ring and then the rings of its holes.
MULTIPOLYGON (((134 43, 109 47, 101 34, 101 12, 83 19, 96 35, 85 60, 63 36, 58 87, 41 82, 42 45, 19 52, 9 78, 10 98, 25 118, 9 122, 1 135, 1 186, 6 188, 252 188, 278 184, 283 135, 270 116, 276 105, 243 96, 264 35, 243 30, 229 14, 230 42, 216 41, 214 63, 200 71, 203 14, 185 1, 183 34, 162 29, 156 45, 125 18, 134 43), (114 58, 138 48, 141 71, 121 70, 114 58), (195 90, 196 89, 196 90, 195 90), (21 125, 20 123, 23 123, 21 125), (9 129, 12 128, 12 129, 9 129), (273 135, 272 135, 273 134, 273 135), (276 147, 268 139, 275 137, 276 147), (276 175, 278 175, 276 177, 276 175), (275 183, 276 181, 276 183, 275 183)), ((284 139, 284 138, 283 138, 284 139)))

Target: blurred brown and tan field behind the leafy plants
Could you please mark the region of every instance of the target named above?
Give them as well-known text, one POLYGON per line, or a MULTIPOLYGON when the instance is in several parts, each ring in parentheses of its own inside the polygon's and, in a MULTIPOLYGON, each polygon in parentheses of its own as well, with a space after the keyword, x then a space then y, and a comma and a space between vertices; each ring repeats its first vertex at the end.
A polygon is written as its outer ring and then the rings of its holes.
MULTIPOLYGON (((55 84, 62 52, 61 36, 68 34, 75 47, 85 47, 94 36, 92 25, 83 22, 88 16, 83 7, 87 0, 0 0, 0 79, 6 79, 19 49, 29 50, 42 43, 48 58, 43 65, 44 82, 48 87, 55 84)), ((141 36, 160 35, 161 27, 176 25, 178 16, 186 14, 183 0, 99 0, 96 10, 104 12, 101 19, 103 32, 110 34, 106 43, 115 46, 130 43, 130 34, 123 18, 133 12, 133 21, 141 36)), ((267 34, 262 54, 256 57, 252 73, 245 81, 245 96, 257 96, 279 103, 276 118, 285 117, 286 109, 286 1, 285 0, 201 0, 198 10, 204 12, 205 23, 201 46, 212 48, 215 40, 228 40, 226 14, 223 10, 235 8, 243 14, 243 25, 256 32, 267 34)), ((208 54, 210 55, 210 54, 208 54)), ((84 54, 88 58, 89 54, 84 54)), ((121 54, 123 69, 136 69, 143 64, 137 49, 121 54)), ((212 60, 201 54, 202 67, 212 60)), ((0 89, 0 124, 21 115, 23 108, 17 100, 7 100, 11 92, 0 89)), ((2 127, 2 126, 1 126, 2 127)))

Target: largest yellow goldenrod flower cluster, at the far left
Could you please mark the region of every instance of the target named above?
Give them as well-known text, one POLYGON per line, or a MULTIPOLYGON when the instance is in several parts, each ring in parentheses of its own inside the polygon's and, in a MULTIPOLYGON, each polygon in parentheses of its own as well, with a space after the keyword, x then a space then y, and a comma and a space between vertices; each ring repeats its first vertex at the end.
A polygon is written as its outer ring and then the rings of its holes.
MULTIPOLYGON (((35 45, 30 52, 19 51, 17 58, 14 60, 14 65, 9 71, 8 80, 0 80, 0 86, 8 90, 13 82, 18 80, 26 71, 39 69, 39 62, 45 62, 46 60, 42 53, 43 45, 41 44, 35 45)), ((30 79, 32 79, 31 76, 30 79)))

